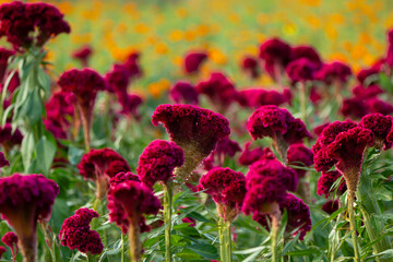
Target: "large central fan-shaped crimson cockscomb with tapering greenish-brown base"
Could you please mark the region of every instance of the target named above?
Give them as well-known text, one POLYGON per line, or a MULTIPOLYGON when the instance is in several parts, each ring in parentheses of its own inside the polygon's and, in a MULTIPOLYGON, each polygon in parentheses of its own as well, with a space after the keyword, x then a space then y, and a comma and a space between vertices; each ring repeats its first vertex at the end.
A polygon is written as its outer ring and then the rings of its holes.
POLYGON ((184 165, 176 169, 177 179, 187 179, 215 148, 218 140, 230 133, 222 115, 191 105, 159 105, 152 116, 154 126, 164 124, 170 141, 184 153, 184 165))

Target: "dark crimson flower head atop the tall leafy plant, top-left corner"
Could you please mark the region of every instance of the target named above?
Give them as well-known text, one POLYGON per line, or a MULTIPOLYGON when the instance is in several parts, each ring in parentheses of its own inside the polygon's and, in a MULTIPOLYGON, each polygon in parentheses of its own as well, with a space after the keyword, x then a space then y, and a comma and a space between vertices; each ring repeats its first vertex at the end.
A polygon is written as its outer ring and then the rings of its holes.
POLYGON ((70 33, 70 25, 63 14, 48 3, 23 3, 14 1, 0 5, 0 36, 15 49, 29 46, 41 47, 51 37, 61 33, 70 33))

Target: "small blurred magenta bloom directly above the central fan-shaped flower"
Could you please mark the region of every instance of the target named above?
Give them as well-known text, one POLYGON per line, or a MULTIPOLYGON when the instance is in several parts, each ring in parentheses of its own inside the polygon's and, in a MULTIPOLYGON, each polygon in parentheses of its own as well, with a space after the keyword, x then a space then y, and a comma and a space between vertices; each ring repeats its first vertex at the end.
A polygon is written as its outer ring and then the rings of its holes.
POLYGON ((169 96, 176 104, 198 105, 199 103, 199 93, 186 81, 177 82, 170 90, 169 96))

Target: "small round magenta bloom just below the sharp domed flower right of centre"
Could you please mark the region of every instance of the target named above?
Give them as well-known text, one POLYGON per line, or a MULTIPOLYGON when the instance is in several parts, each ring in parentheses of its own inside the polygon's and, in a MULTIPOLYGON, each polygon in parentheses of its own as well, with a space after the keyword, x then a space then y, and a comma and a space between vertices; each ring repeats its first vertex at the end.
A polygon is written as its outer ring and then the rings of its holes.
MULTIPOLYGON (((313 164, 312 151, 303 144, 293 144, 289 146, 287 153, 287 162, 293 166, 309 167, 313 164)), ((306 170, 303 169, 294 169, 299 178, 306 175, 306 170)))

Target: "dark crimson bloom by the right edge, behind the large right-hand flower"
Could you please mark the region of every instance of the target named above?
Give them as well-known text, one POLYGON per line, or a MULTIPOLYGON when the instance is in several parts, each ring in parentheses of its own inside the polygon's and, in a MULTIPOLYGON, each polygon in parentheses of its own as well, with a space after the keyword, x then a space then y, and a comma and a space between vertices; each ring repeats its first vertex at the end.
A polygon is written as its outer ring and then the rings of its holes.
POLYGON ((388 142, 388 134, 392 129, 392 117, 381 114, 370 114, 361 118, 359 127, 369 129, 374 135, 374 147, 378 150, 389 150, 392 142, 388 142))

